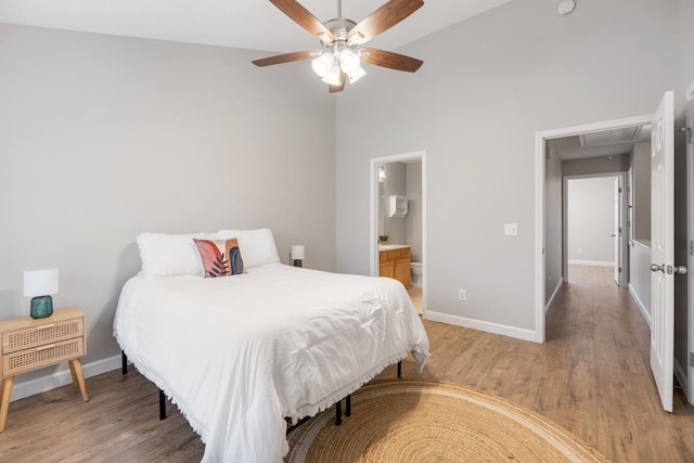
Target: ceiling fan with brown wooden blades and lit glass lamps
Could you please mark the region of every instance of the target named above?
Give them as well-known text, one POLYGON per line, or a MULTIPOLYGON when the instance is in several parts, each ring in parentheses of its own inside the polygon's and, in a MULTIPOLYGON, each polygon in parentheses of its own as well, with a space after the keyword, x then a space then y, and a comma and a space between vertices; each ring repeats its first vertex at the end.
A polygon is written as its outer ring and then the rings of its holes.
POLYGON ((414 73, 422 61, 390 51, 360 48, 388 30, 424 5, 423 0, 390 0, 360 23, 343 17, 342 0, 337 0, 337 17, 321 23, 296 0, 270 0, 284 14, 317 37, 323 50, 279 54, 253 62, 256 66, 291 63, 312 57, 313 70, 327 83, 331 93, 344 90, 345 83, 356 82, 367 72, 361 63, 414 73))

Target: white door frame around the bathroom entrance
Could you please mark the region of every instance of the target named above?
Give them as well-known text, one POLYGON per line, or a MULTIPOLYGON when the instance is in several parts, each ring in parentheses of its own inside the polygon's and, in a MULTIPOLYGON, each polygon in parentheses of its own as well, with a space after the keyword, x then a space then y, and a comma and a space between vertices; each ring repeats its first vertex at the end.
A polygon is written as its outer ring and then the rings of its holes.
POLYGON ((369 257, 371 261, 370 271, 372 276, 378 275, 378 211, 383 207, 378 195, 378 168, 388 163, 401 163, 407 160, 421 160, 422 163, 422 318, 427 319, 427 274, 426 262, 426 151, 415 151, 411 153, 394 154, 390 156, 373 157, 370 159, 370 224, 369 243, 371 243, 369 257))

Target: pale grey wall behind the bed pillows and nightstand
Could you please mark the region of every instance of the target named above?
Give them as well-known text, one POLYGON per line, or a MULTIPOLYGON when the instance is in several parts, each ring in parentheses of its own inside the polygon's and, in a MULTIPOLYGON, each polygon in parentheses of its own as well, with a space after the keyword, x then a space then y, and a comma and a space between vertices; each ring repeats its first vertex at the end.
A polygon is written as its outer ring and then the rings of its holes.
POLYGON ((143 231, 268 226, 285 262, 305 244, 334 269, 334 101, 262 54, 0 24, 0 318, 28 314, 23 269, 57 266, 86 362, 117 355, 143 231))

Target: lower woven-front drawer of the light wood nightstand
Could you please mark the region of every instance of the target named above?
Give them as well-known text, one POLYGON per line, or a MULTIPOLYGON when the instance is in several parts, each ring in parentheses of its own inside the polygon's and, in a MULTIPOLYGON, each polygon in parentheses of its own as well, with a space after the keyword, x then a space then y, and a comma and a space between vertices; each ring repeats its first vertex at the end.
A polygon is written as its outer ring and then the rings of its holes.
POLYGON ((2 376, 15 375, 85 355, 85 338, 61 340, 2 356, 2 376))

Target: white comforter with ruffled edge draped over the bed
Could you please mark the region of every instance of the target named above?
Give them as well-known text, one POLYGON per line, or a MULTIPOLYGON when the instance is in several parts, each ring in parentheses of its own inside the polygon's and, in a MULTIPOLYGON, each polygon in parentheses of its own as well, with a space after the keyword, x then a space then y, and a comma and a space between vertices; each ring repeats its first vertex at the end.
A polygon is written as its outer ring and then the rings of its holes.
POLYGON ((420 371, 429 356, 399 282, 281 263, 218 279, 133 276, 114 335, 210 463, 281 461, 283 416, 331 407, 410 351, 420 371))

